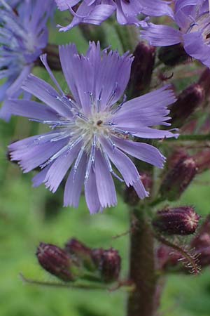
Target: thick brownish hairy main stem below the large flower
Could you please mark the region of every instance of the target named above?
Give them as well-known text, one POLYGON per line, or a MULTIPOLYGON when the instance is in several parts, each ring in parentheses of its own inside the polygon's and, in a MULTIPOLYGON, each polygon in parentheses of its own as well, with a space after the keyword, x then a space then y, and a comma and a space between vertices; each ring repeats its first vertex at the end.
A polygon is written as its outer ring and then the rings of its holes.
POLYGON ((128 298, 127 316, 153 316, 156 290, 153 233, 143 212, 134 210, 132 216, 135 226, 130 245, 130 279, 135 288, 128 298))

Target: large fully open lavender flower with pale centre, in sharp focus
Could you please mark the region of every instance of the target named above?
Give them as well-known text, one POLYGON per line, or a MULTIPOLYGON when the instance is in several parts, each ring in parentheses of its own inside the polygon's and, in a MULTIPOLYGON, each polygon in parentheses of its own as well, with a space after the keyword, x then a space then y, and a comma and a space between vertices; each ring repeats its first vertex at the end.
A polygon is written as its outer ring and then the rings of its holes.
POLYGON ((57 91, 31 74, 22 88, 45 104, 10 100, 10 112, 48 124, 51 131, 9 145, 11 159, 18 161, 25 173, 40 166, 43 170, 34 177, 34 186, 45 183, 52 192, 71 168, 64 206, 78 206, 83 183, 90 213, 116 205, 112 176, 132 185, 139 198, 147 197, 141 176, 127 154, 162 168, 165 157, 159 150, 134 141, 134 137, 176 136, 151 128, 170 125, 166 122, 167 105, 174 103, 174 93, 164 86, 118 103, 130 78, 133 58, 128 53, 120 56, 118 51, 101 53, 99 43, 90 43, 85 56, 79 55, 73 44, 60 46, 59 58, 71 95, 62 91, 46 55, 42 55, 57 91))

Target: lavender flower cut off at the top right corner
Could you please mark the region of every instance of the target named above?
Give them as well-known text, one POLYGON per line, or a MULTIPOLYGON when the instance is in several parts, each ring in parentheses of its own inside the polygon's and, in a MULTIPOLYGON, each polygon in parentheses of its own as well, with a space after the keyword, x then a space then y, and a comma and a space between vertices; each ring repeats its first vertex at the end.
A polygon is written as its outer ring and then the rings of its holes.
POLYGON ((209 1, 176 0, 174 21, 179 29, 148 23, 141 36, 153 46, 183 43, 188 55, 210 67, 209 1))

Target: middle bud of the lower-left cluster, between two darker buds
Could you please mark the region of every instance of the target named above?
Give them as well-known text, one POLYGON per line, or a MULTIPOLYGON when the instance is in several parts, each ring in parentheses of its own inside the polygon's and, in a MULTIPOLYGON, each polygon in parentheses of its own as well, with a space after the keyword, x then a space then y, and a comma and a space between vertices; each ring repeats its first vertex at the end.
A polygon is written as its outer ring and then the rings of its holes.
POLYGON ((70 239, 69 242, 66 242, 65 251, 71 256, 75 256, 87 270, 93 271, 96 269, 92 258, 92 250, 77 239, 70 239))

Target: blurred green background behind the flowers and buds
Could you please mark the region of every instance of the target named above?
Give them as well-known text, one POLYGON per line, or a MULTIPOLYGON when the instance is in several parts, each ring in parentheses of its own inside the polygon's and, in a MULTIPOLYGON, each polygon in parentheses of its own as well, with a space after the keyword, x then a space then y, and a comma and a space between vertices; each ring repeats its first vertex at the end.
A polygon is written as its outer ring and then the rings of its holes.
MULTIPOLYGON (((108 24, 105 28, 113 48, 121 51, 116 33, 110 32, 108 24)), ((70 41, 76 42, 81 52, 87 48, 78 29, 59 34, 51 25, 51 43, 70 41)), ((48 80, 44 70, 37 68, 34 73, 48 80)), ((62 77, 57 76, 61 80, 62 77)), ((9 124, 3 121, 0 124, 0 316, 123 316, 126 306, 123 290, 53 289, 24 284, 20 279, 22 272, 33 279, 55 281, 39 267, 36 247, 39 242, 63 246, 70 237, 92 247, 113 246, 123 258, 123 277, 128 269, 129 235, 113 239, 129 228, 128 209, 120 197, 115 209, 106 209, 97 216, 90 216, 84 198, 78 209, 63 208, 63 187, 59 187, 55 195, 43 185, 34 189, 31 187, 34 172, 22 174, 17 165, 6 159, 8 143, 39 133, 41 129, 43 126, 17 117, 13 117, 9 124)), ((179 204, 195 206, 201 216, 210 213, 209 178, 209 171, 197 177, 179 204)), ((170 275, 162 296, 160 315, 209 316, 209 269, 197 277, 170 275)))

